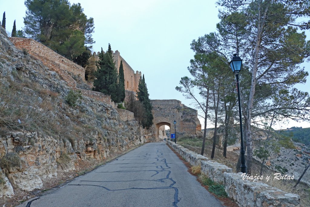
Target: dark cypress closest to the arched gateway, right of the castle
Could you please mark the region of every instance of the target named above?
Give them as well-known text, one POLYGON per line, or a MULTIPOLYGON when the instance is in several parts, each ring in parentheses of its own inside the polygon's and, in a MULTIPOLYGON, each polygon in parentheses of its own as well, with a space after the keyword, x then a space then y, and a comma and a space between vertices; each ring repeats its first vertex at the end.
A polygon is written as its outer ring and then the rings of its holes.
POLYGON ((139 86, 138 86, 138 99, 139 101, 143 104, 145 108, 145 116, 146 119, 143 121, 141 124, 145 128, 149 128, 153 124, 153 114, 152 114, 152 105, 151 101, 149 99, 149 94, 148 94, 148 88, 145 83, 144 75, 143 78, 140 78, 139 80, 139 86))

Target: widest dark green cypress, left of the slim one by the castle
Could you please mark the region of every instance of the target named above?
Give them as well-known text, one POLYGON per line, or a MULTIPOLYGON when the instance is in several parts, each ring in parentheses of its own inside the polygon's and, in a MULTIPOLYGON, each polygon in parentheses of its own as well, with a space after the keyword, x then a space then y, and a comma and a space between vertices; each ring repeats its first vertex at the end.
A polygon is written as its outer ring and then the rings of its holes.
POLYGON ((97 71, 95 72, 93 90, 110 95, 112 101, 119 103, 120 98, 117 94, 117 79, 117 70, 115 68, 113 53, 109 44, 106 53, 104 53, 101 48, 99 61, 97 63, 97 71))

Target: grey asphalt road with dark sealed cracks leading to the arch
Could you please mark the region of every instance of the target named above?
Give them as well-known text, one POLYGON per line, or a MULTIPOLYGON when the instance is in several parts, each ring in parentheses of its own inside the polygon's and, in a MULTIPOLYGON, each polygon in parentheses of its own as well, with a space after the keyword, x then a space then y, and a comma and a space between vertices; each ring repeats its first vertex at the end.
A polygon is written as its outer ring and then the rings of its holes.
MULTIPOLYGON (((33 199, 32 199, 33 200, 33 199)), ((26 206, 27 202, 20 206, 26 206)), ((223 206, 166 143, 148 143, 31 202, 31 207, 223 206)), ((29 202, 28 202, 29 207, 29 202)))

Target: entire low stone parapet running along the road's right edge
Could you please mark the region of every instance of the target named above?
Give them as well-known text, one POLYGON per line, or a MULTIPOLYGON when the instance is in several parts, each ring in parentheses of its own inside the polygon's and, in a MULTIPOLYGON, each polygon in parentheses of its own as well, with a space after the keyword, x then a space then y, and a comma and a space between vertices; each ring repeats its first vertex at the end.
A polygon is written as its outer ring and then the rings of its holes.
POLYGON ((217 183, 223 183, 229 198, 237 201, 241 207, 300 207, 300 197, 297 194, 287 193, 268 186, 262 182, 243 180, 242 173, 232 173, 232 169, 224 164, 208 160, 207 157, 199 157, 198 154, 184 148, 181 145, 168 141, 191 165, 201 165, 201 172, 217 183), (196 157, 196 161, 193 161, 196 157))

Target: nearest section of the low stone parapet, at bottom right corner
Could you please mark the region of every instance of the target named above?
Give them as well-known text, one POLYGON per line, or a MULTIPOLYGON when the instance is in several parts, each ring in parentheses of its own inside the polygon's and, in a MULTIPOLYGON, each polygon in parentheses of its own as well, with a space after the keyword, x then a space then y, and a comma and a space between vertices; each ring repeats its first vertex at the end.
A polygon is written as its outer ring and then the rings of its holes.
POLYGON ((225 191, 241 207, 299 207, 299 195, 287 193, 262 182, 243 180, 242 173, 224 173, 225 191))

